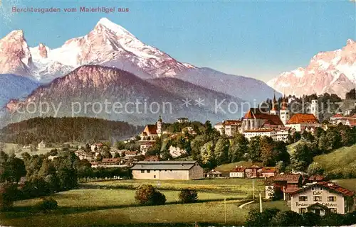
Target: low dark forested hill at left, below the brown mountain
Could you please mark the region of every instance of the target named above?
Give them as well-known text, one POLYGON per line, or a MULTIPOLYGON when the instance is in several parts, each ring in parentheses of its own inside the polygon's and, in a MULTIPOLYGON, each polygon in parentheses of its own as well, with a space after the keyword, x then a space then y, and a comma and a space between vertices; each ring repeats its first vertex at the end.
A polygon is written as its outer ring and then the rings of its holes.
POLYGON ((106 121, 98 118, 31 118, 12 123, 0 130, 0 140, 5 143, 28 145, 41 140, 46 143, 77 141, 88 143, 98 140, 122 140, 142 131, 122 121, 106 121))

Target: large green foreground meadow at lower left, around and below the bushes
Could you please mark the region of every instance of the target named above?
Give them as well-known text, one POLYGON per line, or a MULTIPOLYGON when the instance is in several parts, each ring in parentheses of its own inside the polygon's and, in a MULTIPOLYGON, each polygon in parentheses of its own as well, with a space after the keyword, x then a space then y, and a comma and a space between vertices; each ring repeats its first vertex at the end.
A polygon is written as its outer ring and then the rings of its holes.
MULTIPOLYGON (((247 214, 239 209, 241 196, 231 196, 224 204, 224 194, 199 192, 199 202, 176 204, 177 191, 163 191, 164 206, 137 206, 135 191, 125 189, 78 189, 54 195, 58 210, 43 214, 31 207, 38 199, 18 201, 15 211, 0 213, 0 223, 6 226, 118 226, 129 223, 224 223, 241 225, 247 214), (219 200, 219 201, 211 201, 219 200), (26 211, 25 211, 26 210, 26 211)), ((140 225, 143 226, 143 225, 140 225)))

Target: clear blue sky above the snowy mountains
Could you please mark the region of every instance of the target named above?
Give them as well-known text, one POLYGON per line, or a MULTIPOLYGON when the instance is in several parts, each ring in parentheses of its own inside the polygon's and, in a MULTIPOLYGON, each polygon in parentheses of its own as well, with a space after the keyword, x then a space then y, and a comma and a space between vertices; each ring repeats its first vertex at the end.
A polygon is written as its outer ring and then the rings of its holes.
POLYGON ((0 36, 22 29, 31 46, 57 48, 100 18, 182 62, 268 81, 308 65, 317 52, 356 39, 351 1, 21 1, 2 0, 0 36), (11 13, 11 7, 115 6, 129 13, 11 13))

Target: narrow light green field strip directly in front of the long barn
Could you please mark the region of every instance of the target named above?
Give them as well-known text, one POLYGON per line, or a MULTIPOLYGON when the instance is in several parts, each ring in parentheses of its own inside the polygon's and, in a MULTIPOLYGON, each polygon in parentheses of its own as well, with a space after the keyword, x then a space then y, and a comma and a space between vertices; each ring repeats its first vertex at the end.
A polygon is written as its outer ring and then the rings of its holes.
MULTIPOLYGON (((204 192, 223 192, 231 194, 252 194, 253 179, 201 179, 201 180, 148 180, 125 179, 108 182, 88 182, 81 184, 87 188, 135 189, 140 184, 152 184, 159 189, 181 190, 194 188, 204 192)), ((255 192, 264 192, 264 179, 254 179, 255 192)))

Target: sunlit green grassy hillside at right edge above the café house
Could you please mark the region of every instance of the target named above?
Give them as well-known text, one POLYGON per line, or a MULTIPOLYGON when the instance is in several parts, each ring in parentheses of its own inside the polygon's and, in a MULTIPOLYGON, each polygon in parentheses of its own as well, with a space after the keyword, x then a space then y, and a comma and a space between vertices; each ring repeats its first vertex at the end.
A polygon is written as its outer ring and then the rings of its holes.
POLYGON ((324 170, 332 171, 342 168, 356 168, 356 145, 343 147, 327 155, 314 157, 314 162, 318 162, 324 170))

